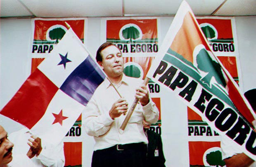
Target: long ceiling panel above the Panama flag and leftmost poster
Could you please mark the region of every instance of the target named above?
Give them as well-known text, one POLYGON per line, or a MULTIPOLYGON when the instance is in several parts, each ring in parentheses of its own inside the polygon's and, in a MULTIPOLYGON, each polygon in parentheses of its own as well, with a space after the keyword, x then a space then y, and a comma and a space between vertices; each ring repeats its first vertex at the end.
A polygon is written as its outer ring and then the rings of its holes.
POLYGON ((36 17, 121 16, 121 0, 21 0, 36 17))

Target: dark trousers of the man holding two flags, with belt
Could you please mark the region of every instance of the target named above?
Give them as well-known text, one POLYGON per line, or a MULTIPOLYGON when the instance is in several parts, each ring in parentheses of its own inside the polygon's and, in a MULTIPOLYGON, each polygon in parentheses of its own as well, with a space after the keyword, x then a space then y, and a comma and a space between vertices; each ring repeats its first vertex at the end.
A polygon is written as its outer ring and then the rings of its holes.
POLYGON ((97 150, 92 155, 92 167, 145 167, 147 145, 131 143, 97 150))

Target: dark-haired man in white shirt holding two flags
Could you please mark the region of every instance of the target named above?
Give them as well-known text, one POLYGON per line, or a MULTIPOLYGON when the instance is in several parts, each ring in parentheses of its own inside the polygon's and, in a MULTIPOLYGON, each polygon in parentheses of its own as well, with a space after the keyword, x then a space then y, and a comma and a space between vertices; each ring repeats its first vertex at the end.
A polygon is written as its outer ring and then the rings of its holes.
POLYGON ((83 111, 85 131, 95 139, 92 167, 143 167, 148 141, 142 121, 156 123, 159 111, 142 80, 123 74, 123 57, 118 47, 105 42, 97 50, 96 60, 123 97, 105 79, 83 111), (128 104, 132 105, 135 97, 139 103, 122 131, 128 104))

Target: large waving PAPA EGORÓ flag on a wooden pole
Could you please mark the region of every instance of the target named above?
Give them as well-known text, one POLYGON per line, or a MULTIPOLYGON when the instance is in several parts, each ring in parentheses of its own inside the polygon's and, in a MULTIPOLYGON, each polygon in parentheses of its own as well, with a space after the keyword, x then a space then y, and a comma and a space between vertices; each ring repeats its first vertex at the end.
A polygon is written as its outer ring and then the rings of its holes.
MULTIPOLYGON (((255 113, 183 1, 147 74, 256 160, 255 113)), ((176 111, 171 111, 176 112, 176 111)))

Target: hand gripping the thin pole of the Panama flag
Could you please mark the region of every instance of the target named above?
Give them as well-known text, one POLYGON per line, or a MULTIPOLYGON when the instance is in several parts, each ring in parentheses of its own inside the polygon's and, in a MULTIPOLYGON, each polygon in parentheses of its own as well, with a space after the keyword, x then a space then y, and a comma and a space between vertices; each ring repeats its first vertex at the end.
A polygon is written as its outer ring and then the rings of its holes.
POLYGON ((128 103, 127 103, 126 99, 120 98, 120 99, 118 99, 118 101, 116 101, 112 105, 112 107, 109 111, 109 116, 114 120, 114 118, 118 118, 122 114, 125 115, 127 110, 128 110, 128 103))

